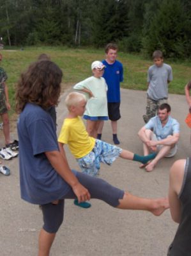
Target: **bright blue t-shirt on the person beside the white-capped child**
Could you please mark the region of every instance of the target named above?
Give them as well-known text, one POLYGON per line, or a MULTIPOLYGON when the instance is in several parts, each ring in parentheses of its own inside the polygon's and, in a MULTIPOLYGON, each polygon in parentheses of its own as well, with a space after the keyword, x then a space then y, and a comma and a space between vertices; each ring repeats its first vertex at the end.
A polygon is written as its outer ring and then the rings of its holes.
POLYGON ((123 65, 116 60, 113 64, 108 64, 106 60, 102 60, 106 66, 103 78, 107 83, 107 102, 120 102, 120 82, 123 81, 123 65))

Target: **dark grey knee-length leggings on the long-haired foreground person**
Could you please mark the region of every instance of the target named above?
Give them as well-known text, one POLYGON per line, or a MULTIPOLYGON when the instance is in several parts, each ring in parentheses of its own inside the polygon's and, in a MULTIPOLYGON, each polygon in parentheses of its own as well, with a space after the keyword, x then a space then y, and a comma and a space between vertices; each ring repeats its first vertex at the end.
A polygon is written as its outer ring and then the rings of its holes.
MULTIPOLYGON (((86 187, 86 189, 88 189, 91 198, 105 201, 105 203, 108 203, 112 207, 117 207, 119 205, 119 199, 122 199, 124 196, 124 191, 112 186, 100 178, 77 172, 77 179, 84 185, 84 187, 86 187)), ((76 196, 71 188, 63 198, 60 198, 57 205, 53 205, 52 203, 42 205, 44 221, 43 229, 45 231, 49 233, 57 232, 64 218, 65 199, 75 198, 76 196)))

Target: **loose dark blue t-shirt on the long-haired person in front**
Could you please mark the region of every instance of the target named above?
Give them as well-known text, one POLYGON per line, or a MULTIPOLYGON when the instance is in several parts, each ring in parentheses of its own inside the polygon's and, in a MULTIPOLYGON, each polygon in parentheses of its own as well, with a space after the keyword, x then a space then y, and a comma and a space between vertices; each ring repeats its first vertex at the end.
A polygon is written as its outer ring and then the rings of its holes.
POLYGON ((50 114, 38 105, 27 103, 17 129, 21 198, 40 205, 63 198, 70 187, 45 155, 47 151, 59 150, 56 125, 50 114))

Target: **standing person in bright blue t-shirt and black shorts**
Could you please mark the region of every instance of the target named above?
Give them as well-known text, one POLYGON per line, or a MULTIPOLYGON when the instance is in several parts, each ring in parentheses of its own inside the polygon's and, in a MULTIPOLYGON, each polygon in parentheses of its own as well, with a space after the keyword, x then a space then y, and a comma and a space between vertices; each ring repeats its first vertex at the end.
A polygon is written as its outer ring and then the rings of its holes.
MULTIPOLYGON (((102 61, 105 65, 105 72, 103 78, 107 83, 107 107, 108 115, 111 120, 112 139, 114 144, 120 144, 118 139, 118 120, 121 118, 120 114, 120 82, 123 81, 123 65, 116 60, 118 56, 118 46, 116 44, 107 44, 105 47, 106 58, 102 61)), ((102 139, 102 129, 104 121, 100 123, 98 128, 97 139, 102 139)))

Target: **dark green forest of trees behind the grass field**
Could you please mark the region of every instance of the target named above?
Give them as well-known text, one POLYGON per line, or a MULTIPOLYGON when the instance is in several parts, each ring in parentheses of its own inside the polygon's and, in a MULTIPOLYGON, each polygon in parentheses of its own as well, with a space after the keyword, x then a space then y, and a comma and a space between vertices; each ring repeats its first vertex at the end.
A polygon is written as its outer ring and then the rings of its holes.
POLYGON ((0 37, 9 46, 93 46, 191 57, 190 0, 0 0, 0 37))

